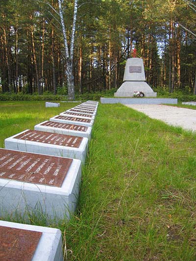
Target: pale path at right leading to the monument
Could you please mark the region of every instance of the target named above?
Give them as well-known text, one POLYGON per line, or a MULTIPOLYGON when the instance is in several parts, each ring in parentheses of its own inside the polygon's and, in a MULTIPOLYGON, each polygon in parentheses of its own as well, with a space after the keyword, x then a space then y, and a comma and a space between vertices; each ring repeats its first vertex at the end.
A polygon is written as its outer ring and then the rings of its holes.
POLYGON ((126 106, 143 112, 152 119, 160 119, 170 125, 196 131, 196 110, 167 105, 127 104, 126 106))

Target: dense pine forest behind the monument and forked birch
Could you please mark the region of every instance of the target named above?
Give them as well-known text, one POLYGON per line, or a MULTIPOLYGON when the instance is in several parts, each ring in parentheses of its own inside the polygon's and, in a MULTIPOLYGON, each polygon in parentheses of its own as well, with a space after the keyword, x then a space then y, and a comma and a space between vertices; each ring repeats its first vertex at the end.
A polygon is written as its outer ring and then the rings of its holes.
MULTIPOLYGON (((62 2, 70 46, 74 0, 62 2)), ((57 0, 0 0, 0 93, 67 94, 57 12, 57 0)), ((195 95, 195 32, 195 0, 79 0, 75 92, 119 88, 136 48, 152 88, 195 95)))

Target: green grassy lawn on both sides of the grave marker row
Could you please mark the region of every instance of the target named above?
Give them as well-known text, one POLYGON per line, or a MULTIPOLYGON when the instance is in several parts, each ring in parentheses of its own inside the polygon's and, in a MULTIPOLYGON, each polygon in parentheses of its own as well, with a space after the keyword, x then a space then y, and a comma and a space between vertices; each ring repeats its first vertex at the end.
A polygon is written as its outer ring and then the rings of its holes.
MULTIPOLYGON (((44 104, 0 102, 0 146, 76 106, 44 104)), ((196 134, 99 104, 89 147, 78 210, 59 224, 65 260, 195 261, 196 134)))

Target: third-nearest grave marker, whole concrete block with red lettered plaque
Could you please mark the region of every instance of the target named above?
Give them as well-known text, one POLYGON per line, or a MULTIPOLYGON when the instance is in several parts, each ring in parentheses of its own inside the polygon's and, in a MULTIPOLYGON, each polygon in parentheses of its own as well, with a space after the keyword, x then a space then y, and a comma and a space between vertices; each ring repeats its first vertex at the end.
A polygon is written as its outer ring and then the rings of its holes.
POLYGON ((88 139, 37 130, 25 130, 5 139, 5 148, 68 157, 85 163, 88 139))

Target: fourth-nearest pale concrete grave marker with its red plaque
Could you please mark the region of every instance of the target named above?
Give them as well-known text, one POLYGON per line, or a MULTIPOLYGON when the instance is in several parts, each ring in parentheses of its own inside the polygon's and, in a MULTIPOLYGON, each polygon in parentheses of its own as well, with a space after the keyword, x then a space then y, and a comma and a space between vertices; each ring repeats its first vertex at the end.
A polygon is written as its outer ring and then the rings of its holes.
POLYGON ((91 139, 91 127, 69 124, 69 123, 60 123, 54 121, 43 121, 34 127, 35 130, 47 131, 51 133, 67 134, 76 137, 85 137, 91 139))

